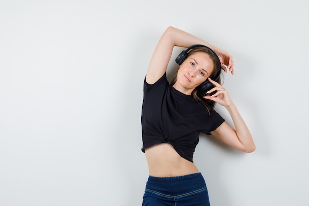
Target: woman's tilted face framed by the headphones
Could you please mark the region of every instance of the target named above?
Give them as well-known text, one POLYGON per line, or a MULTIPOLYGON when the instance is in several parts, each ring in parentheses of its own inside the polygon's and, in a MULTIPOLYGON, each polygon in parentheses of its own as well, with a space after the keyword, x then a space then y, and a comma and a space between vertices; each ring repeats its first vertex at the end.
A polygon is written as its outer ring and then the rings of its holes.
POLYGON ((180 65, 177 81, 173 85, 180 92, 191 95, 193 89, 205 82, 214 70, 214 64, 208 54, 195 52, 180 65))

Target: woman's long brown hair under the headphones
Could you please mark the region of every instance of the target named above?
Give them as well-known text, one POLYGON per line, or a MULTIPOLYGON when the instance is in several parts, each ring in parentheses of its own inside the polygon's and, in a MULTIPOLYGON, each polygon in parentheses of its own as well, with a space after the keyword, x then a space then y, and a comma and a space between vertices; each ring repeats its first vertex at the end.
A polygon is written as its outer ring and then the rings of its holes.
MULTIPOLYGON (((196 52, 204 52, 204 53, 209 55, 210 59, 213 61, 213 64, 214 64, 214 69, 213 69, 212 73, 210 74, 209 78, 210 79, 216 78, 218 73, 221 73, 221 62, 218 59, 218 56, 212 50, 210 50, 207 47, 195 47, 191 51, 188 52, 188 57, 193 55, 196 52)), ((174 85, 176 81, 177 81, 177 72, 176 72, 176 75, 175 75, 173 81, 170 83, 170 85, 174 85)), ((221 84, 221 77, 219 77, 216 80, 216 82, 221 84)), ((208 99, 204 99, 204 98, 198 97, 197 96, 197 92, 198 92, 198 89, 197 89, 197 87, 195 87, 193 89, 191 95, 193 96, 193 98, 197 102, 202 103, 204 105, 204 107, 207 109, 208 113, 209 113, 210 109, 212 109, 215 106, 216 102, 214 102, 212 100, 208 100, 208 99)))

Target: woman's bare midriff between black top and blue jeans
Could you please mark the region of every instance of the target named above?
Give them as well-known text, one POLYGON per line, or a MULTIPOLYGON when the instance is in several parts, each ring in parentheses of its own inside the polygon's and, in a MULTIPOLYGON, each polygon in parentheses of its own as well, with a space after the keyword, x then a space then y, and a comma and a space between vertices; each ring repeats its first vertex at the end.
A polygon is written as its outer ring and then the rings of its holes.
POLYGON ((196 166, 182 158, 172 145, 159 143, 145 149, 149 175, 174 177, 199 172, 196 166))

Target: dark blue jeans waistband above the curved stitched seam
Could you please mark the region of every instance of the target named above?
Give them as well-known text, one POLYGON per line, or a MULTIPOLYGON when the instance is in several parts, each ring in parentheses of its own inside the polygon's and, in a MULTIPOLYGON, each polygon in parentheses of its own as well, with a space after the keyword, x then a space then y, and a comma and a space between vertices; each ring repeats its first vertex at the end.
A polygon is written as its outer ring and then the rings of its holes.
POLYGON ((200 172, 175 177, 149 176, 146 189, 166 195, 180 195, 205 188, 206 183, 200 172))

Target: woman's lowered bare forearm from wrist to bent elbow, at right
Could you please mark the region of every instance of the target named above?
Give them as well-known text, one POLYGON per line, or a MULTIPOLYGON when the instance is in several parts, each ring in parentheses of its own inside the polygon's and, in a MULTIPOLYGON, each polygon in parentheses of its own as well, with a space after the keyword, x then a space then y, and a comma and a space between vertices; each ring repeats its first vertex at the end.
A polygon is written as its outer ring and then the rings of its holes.
POLYGON ((253 152, 255 150, 253 138, 236 106, 232 104, 231 106, 226 106, 226 108, 232 117, 232 121, 235 125, 236 135, 239 139, 239 142, 243 145, 244 151, 253 152))

